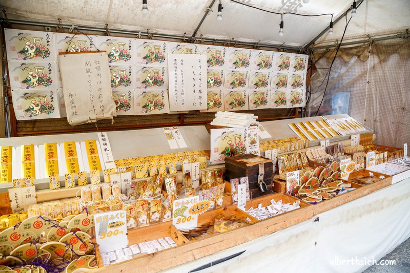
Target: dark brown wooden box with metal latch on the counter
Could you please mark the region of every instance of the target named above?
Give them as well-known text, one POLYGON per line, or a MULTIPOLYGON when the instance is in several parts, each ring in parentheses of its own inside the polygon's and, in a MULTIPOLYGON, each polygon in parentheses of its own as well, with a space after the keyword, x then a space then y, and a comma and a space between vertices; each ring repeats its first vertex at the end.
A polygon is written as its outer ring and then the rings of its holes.
POLYGON ((272 193, 273 179, 273 164, 272 159, 256 156, 253 154, 245 154, 225 159, 225 179, 230 181, 234 178, 247 176, 249 179, 249 189, 251 197, 256 198, 261 195, 272 193), (263 167, 263 182, 267 185, 268 191, 262 193, 258 186, 258 177, 260 174, 259 164, 263 167))

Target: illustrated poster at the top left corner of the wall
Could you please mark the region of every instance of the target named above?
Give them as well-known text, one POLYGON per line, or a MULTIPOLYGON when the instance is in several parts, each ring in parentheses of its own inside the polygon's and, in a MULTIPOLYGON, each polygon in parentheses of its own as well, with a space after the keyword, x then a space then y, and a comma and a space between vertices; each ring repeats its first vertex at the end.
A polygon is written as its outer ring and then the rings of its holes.
POLYGON ((7 58, 19 62, 52 62, 56 60, 54 33, 5 29, 7 58))

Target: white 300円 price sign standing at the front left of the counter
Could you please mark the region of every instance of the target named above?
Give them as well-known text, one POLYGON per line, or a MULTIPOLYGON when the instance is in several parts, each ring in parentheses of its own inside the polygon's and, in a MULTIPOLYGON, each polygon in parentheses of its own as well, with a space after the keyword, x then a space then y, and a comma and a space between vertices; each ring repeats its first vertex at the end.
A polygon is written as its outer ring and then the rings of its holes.
POLYGON ((94 215, 95 237, 101 253, 127 247, 126 211, 114 211, 94 215))

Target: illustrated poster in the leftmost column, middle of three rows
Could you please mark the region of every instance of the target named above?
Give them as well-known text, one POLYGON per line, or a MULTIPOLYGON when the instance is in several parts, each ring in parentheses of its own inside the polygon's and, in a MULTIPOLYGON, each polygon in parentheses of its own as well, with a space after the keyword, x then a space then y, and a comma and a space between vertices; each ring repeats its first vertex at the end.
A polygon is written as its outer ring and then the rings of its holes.
POLYGON ((54 62, 9 62, 11 90, 55 89, 54 62))

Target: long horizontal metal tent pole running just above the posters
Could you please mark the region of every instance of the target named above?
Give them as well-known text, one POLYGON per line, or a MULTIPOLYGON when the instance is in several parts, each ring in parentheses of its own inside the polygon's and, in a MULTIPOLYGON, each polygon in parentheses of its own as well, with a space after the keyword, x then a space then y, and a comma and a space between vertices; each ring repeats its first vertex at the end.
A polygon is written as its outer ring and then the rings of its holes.
MULTIPOLYGON (((6 22, 5 19, 1 19, 0 22, 6 22)), ((25 20, 15 20, 15 19, 8 19, 7 22, 10 24, 16 24, 16 25, 26 25, 26 26, 36 26, 36 27, 50 27, 50 28, 55 28, 57 24, 52 24, 52 23, 44 23, 44 22, 38 22, 38 21, 25 21, 25 20)), ((64 28, 71 28, 71 25, 61 25, 64 28)), ((84 31, 95 31, 95 32, 104 32, 106 29, 105 28, 93 28, 93 27, 84 27, 84 26, 75 26, 76 29, 78 30, 84 30, 84 31)), ((131 31, 131 30, 119 30, 119 29, 110 29, 111 33, 118 33, 118 34, 127 34, 127 35, 134 35, 136 36, 139 31, 131 31)), ((147 35, 147 32, 140 32, 142 35, 147 35)), ((161 33, 152 33, 153 37, 158 37, 158 38, 165 38, 165 39, 178 39, 181 40, 183 39, 183 35, 173 35, 173 34, 161 34, 161 33)), ((211 39, 211 38, 203 38, 202 39, 204 42, 207 43, 218 43, 218 44, 223 44, 226 42, 237 42, 237 45, 239 47, 250 47, 253 48, 255 46, 255 43, 251 42, 245 42, 245 41, 233 41, 233 40, 223 40, 223 39, 211 39)), ((259 47, 261 48, 267 48, 269 50, 278 50, 284 49, 284 50, 292 50, 292 51, 297 51, 299 52, 300 47, 299 46, 290 46, 290 45, 282 45, 282 44, 262 44, 259 43, 259 47)))

